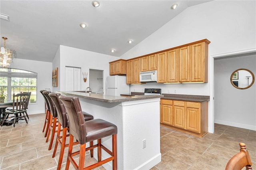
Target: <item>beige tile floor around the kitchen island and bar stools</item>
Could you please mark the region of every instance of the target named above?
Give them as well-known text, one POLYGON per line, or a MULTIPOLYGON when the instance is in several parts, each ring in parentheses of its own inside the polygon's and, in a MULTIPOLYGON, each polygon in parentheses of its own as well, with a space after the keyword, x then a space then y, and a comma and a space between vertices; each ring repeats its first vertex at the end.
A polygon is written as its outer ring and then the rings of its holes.
MULTIPOLYGON (((20 121, 13 126, 0 127, 1 170, 55 170, 58 154, 52 158, 52 150, 45 142, 42 127, 44 114, 30 115, 28 124, 20 121)), ((221 170, 228 160, 239 152, 239 142, 249 150, 252 167, 256 167, 256 131, 215 124, 215 133, 196 137, 166 127, 160 127, 162 162, 152 170, 189 169, 221 170)), ((54 146, 54 144, 53 144, 54 146)), ((78 146, 74 146, 74 149, 78 146)), ((58 146, 58 150, 60 146, 58 146)), ((61 169, 65 169, 66 151, 61 169)), ((87 153, 86 161, 95 162, 87 153)), ((74 169, 70 165, 70 169, 74 169)), ((96 170, 103 170, 101 166, 96 170)))

